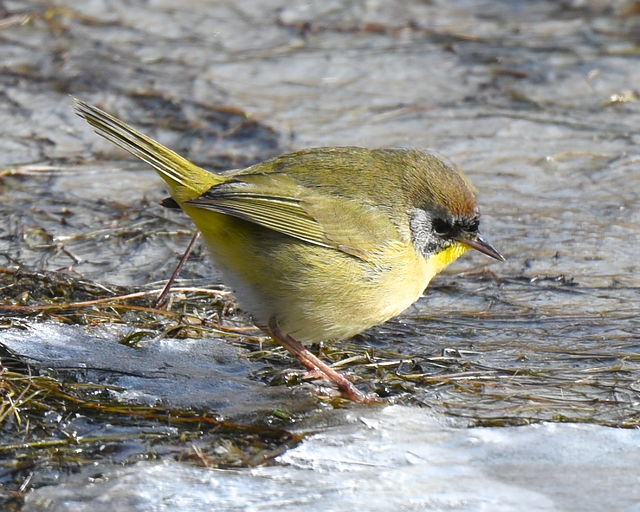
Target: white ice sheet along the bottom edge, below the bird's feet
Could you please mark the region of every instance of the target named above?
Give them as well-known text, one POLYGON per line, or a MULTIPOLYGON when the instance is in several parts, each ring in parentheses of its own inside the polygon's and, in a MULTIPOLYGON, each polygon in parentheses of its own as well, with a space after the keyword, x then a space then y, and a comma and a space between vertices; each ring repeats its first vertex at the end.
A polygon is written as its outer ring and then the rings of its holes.
POLYGON ((89 468, 25 510, 638 510, 640 432, 583 424, 451 428, 423 409, 335 413, 278 464, 89 468), (99 475, 98 478, 92 476, 99 475))

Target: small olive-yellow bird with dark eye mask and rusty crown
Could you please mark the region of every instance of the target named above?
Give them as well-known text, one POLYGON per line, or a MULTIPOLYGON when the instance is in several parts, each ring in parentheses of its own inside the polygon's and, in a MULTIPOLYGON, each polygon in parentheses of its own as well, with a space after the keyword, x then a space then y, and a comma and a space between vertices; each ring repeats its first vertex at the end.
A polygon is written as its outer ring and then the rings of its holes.
POLYGON ((314 148, 215 174, 92 105, 76 112, 158 172, 256 325, 352 400, 304 343, 396 316, 468 249, 504 259, 478 234, 473 185, 432 154, 314 148))

